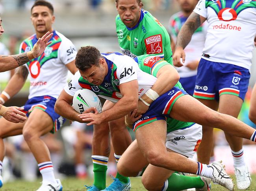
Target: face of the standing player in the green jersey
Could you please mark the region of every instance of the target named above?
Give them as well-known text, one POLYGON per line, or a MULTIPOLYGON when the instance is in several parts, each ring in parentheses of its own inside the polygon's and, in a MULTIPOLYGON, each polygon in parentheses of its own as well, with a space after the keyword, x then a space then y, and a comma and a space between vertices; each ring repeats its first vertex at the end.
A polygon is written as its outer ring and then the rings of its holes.
POLYGON ((138 4, 137 0, 118 0, 116 7, 122 22, 127 27, 135 27, 141 16, 141 2, 138 4))

